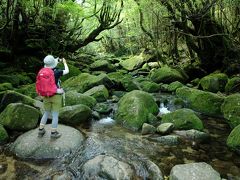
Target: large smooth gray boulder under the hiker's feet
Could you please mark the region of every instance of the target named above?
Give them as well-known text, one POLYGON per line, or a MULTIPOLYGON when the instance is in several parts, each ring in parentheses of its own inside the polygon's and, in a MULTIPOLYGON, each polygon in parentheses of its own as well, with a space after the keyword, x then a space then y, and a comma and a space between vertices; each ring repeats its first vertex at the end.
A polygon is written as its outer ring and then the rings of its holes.
POLYGON ((50 138, 51 125, 45 126, 46 134, 38 137, 38 128, 19 136, 11 145, 11 151, 23 159, 54 159, 77 150, 83 143, 84 137, 80 131, 69 126, 58 125, 62 136, 50 138))

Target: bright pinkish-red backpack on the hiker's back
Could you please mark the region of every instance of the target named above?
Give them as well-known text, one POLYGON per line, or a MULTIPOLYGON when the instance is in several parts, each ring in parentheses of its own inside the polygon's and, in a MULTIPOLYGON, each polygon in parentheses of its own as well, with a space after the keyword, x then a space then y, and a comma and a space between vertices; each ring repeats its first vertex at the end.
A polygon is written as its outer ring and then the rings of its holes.
POLYGON ((51 68, 42 68, 37 74, 36 91, 38 95, 50 97, 56 94, 57 85, 55 83, 54 72, 51 68))

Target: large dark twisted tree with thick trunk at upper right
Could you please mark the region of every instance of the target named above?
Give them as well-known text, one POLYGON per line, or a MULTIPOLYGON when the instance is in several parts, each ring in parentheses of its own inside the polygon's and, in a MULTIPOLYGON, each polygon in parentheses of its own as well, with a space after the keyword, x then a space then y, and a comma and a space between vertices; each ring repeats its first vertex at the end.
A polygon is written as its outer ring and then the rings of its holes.
POLYGON ((159 2, 167 8, 174 29, 185 37, 193 61, 196 53, 200 66, 207 72, 240 72, 240 51, 215 15, 221 10, 218 0, 159 2))

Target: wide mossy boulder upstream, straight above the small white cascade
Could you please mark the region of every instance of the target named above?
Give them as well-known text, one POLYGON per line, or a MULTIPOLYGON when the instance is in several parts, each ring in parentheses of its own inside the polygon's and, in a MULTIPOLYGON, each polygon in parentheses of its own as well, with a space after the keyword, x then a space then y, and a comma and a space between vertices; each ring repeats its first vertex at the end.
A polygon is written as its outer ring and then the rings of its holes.
POLYGON ((156 83, 172 83, 174 81, 184 82, 185 77, 176 69, 168 66, 161 67, 151 72, 150 79, 156 83))

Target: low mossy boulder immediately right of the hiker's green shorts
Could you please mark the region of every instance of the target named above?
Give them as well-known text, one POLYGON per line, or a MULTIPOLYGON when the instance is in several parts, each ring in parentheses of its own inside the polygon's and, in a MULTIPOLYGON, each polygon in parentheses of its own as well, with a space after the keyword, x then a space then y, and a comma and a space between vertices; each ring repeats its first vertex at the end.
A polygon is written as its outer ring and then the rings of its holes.
POLYGON ((65 93, 65 105, 72 106, 77 104, 84 104, 90 108, 97 103, 94 97, 78 93, 77 91, 67 91, 65 93))

